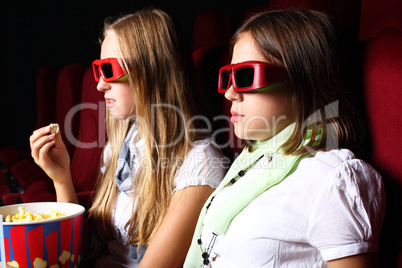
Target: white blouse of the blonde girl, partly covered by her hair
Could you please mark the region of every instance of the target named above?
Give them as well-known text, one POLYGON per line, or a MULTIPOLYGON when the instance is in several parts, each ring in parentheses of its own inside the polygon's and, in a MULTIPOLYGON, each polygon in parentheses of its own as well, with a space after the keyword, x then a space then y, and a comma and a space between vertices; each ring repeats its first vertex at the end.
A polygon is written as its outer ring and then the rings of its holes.
MULTIPOLYGON (((139 166, 141 165, 141 154, 144 148, 144 140, 140 139, 134 142, 138 130, 133 135, 130 143, 130 152, 134 156, 132 165, 132 180, 126 180, 125 183, 133 183, 136 177, 139 166)), ((104 153, 105 163, 109 162, 111 150, 106 147, 104 153)), ((213 146, 210 138, 195 141, 193 148, 187 154, 182 166, 177 172, 177 177, 174 180, 175 191, 184 189, 189 186, 209 185, 216 188, 222 181, 226 169, 224 164, 227 161, 224 159, 222 152, 213 146)), ((161 164, 161 163, 159 163, 161 164)), ((102 168, 105 170, 105 167, 102 168)), ((117 197, 114 211, 114 226, 113 240, 110 240, 107 245, 107 250, 104 255, 96 261, 96 267, 137 267, 138 262, 128 257, 129 252, 129 237, 127 235, 126 223, 131 218, 133 210, 132 191, 125 193, 121 191, 117 197)))

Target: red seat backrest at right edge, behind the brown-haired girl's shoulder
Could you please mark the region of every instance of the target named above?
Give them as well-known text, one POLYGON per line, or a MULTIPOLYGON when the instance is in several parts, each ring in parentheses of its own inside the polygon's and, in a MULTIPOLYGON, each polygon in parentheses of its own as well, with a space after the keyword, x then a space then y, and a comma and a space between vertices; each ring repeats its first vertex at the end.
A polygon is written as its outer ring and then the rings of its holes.
POLYGON ((402 182, 402 32, 386 29, 365 47, 363 82, 373 160, 402 182), (390 131, 390 128, 392 131, 390 131))

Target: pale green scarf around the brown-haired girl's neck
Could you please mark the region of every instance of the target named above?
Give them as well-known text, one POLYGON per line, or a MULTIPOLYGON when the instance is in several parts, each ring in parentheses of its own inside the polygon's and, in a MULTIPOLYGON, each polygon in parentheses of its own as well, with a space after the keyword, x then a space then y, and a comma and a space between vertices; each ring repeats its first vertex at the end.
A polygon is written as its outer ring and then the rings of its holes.
MULTIPOLYGON (((287 176, 292 174, 300 160, 307 155, 282 155, 281 165, 275 165, 275 163, 270 163, 266 171, 261 172, 253 181, 248 183, 240 191, 238 191, 229 201, 223 204, 208 221, 204 222, 205 215, 207 213, 209 204, 212 202, 213 198, 234 178, 238 178, 239 167, 245 169, 252 168, 256 162, 261 158, 261 156, 271 157, 275 153, 281 153, 279 148, 283 145, 291 136, 295 127, 295 123, 290 124, 275 137, 267 141, 257 141, 252 152, 243 150, 243 152, 235 159, 232 166, 230 167, 228 173, 226 174, 223 181, 219 184, 218 188, 212 193, 204 207, 201 210, 200 216, 198 218, 197 227, 191 242, 190 250, 187 254, 186 261, 184 263, 184 268, 201 267, 203 265, 202 250, 200 247, 202 245, 198 244, 198 239, 201 237, 201 232, 203 225, 208 226, 214 234, 222 235, 226 233, 232 220, 237 216, 243 208, 251 203, 260 194, 271 188, 272 186, 280 183, 287 176), (278 168, 280 166, 280 168, 278 168)), ((319 129, 320 130, 320 129, 319 129)), ((321 131, 317 131, 316 139, 320 140, 321 131)), ((307 137, 303 144, 307 144, 311 138, 311 130, 307 131, 307 137)), ((273 160, 275 161, 275 159, 273 160)))

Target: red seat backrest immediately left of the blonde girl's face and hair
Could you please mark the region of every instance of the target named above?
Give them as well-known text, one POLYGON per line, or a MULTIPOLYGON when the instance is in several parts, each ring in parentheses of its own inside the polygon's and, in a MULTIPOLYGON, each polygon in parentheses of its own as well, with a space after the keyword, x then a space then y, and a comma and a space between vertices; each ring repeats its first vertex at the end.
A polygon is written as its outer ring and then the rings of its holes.
POLYGON ((94 189, 99 173, 99 160, 106 142, 105 101, 96 89, 92 68, 82 81, 80 126, 77 147, 71 161, 71 175, 77 193, 94 189))

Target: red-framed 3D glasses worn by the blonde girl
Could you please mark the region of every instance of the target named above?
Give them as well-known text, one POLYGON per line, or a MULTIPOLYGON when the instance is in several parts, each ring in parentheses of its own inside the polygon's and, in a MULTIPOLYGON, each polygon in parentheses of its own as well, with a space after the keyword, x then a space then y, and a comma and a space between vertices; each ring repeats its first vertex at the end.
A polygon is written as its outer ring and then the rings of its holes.
POLYGON ((121 67, 117 58, 94 60, 92 62, 92 69, 96 82, 99 82, 101 77, 105 82, 116 81, 127 73, 127 71, 121 67))

